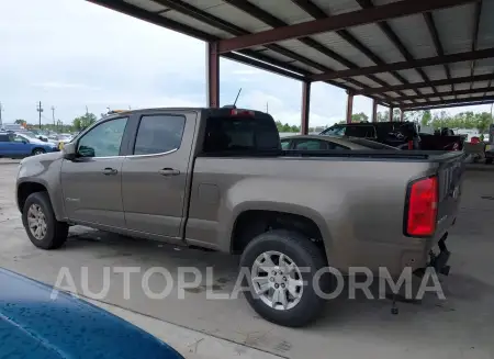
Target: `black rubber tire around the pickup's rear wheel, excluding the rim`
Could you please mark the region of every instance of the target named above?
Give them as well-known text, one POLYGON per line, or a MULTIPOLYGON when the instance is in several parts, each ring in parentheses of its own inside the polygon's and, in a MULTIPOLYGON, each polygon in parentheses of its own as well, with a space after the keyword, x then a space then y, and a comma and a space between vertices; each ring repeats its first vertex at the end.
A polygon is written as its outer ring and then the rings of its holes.
MULTIPOLYGON (((250 276, 244 285, 249 285, 249 291, 244 294, 250 306, 265 319, 289 327, 301 327, 313 322, 322 314, 325 300, 316 294, 313 287, 313 278, 316 271, 325 267, 326 259, 322 250, 307 237, 285 229, 270 231, 254 238, 240 258, 240 268, 252 269, 255 260, 266 251, 279 251, 290 257, 299 268, 310 268, 310 272, 302 272, 302 279, 306 282, 300 302, 292 308, 276 310, 268 306, 255 295, 250 276)), ((245 279, 244 279, 245 280, 245 279)), ((321 287, 325 290, 325 285, 321 287)))

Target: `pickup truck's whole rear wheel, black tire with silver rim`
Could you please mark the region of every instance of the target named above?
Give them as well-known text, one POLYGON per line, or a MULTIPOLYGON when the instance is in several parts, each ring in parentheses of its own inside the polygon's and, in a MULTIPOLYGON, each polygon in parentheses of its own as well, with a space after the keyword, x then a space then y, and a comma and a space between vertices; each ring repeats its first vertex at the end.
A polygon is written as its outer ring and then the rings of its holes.
POLYGON ((290 231, 263 233, 249 243, 240 259, 248 269, 245 296, 265 319, 290 327, 314 321, 324 299, 314 281, 326 266, 323 251, 307 237, 290 231))

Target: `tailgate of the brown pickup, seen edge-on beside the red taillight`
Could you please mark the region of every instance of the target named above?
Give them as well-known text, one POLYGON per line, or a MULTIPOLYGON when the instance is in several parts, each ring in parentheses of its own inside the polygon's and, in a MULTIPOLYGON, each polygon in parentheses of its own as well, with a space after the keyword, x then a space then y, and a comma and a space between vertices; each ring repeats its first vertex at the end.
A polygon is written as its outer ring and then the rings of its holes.
POLYGON ((437 212, 438 233, 447 231, 453 224, 453 221, 457 216, 461 197, 463 172, 463 156, 458 156, 439 165, 439 197, 437 212))

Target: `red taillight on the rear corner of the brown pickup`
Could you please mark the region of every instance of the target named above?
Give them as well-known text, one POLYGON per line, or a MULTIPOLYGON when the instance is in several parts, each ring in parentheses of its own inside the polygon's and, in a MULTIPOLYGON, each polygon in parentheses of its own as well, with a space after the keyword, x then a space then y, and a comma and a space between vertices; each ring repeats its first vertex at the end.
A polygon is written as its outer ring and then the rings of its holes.
POLYGON ((406 234, 413 237, 430 236, 436 231, 438 186, 437 177, 414 182, 408 194, 406 234))

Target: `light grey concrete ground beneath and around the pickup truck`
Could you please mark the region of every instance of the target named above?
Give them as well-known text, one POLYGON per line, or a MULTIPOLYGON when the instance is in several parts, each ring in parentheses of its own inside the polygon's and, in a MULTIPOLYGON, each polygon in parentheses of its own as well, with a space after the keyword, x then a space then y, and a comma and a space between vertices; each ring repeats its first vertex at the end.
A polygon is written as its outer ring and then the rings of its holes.
MULTIPOLYGON (((54 284, 67 267, 78 291, 103 288, 104 267, 139 267, 131 276, 125 299, 123 276, 110 272, 110 289, 96 301, 116 315, 144 327, 194 358, 494 358, 494 171, 467 173, 461 212, 448 238, 452 270, 442 279, 447 300, 427 295, 422 304, 400 303, 391 315, 389 301, 328 302, 321 318, 300 329, 284 328, 259 318, 242 298, 207 300, 206 291, 228 292, 236 280, 237 258, 149 243, 74 227, 59 250, 36 249, 27 239, 14 204, 15 164, 0 164, 0 266, 54 284), (165 300, 144 295, 142 276, 165 267, 177 277, 179 266, 203 271, 213 267, 214 280, 187 290, 177 288, 165 300)), ((153 276, 154 292, 166 287, 153 276)), ((93 296, 94 298, 94 296, 93 296)))

